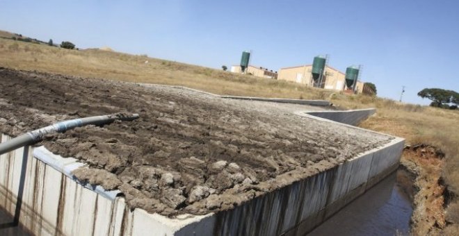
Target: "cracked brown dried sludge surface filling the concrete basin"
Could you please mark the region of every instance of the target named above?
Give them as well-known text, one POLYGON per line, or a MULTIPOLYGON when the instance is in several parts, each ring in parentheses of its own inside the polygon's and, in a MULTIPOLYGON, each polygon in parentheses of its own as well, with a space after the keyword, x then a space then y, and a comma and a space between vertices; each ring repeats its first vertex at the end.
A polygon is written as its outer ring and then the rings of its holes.
POLYGON ((48 135, 40 144, 89 165, 80 180, 120 189, 131 208, 170 217, 234 208, 381 146, 385 135, 294 115, 309 106, 0 68, 0 132, 139 113, 48 135))

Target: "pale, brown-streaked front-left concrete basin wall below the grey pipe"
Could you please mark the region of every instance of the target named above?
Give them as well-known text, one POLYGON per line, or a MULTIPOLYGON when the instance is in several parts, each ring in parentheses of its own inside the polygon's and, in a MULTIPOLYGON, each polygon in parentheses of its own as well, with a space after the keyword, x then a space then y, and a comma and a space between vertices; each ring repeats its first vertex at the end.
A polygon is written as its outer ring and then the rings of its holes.
MULTIPOLYGON (((9 139, 1 135, 1 142, 9 139)), ((71 174, 77 168, 85 165, 54 155, 43 146, 1 155, 0 207, 35 235, 177 235, 178 230, 191 235, 190 230, 208 231, 206 218, 212 214, 168 219, 144 210, 131 211, 119 191, 79 183, 71 174)))

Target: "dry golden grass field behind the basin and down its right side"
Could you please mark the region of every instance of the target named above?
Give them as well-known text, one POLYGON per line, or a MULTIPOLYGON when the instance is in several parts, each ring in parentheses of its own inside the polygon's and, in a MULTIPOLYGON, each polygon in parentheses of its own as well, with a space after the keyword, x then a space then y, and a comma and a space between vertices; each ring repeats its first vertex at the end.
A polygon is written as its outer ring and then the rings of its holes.
MULTIPOLYGON (((459 171, 457 171, 459 167, 459 110, 414 106, 364 95, 348 96, 331 90, 319 90, 284 81, 236 75, 228 71, 147 56, 133 56, 98 49, 67 50, 5 39, 0 39, 0 67, 110 78, 117 81, 183 85, 216 94, 328 99, 341 108, 349 109, 377 108, 376 115, 364 121, 361 124, 362 127, 404 137, 408 144, 430 144, 444 152, 445 158, 442 159, 442 163, 445 162, 445 164, 442 164, 441 173, 437 169, 419 166, 419 168, 424 168, 424 174, 430 174, 430 182, 435 182, 436 185, 445 183, 451 193, 450 198, 446 198, 451 201, 445 214, 448 223, 442 226, 441 222, 435 219, 433 223, 428 224, 444 228, 444 233, 459 232, 455 231, 458 230, 459 205, 456 199, 451 198, 459 194, 459 171)), ((442 196, 433 194, 435 198, 426 201, 443 198, 444 194, 440 195, 442 196)), ((429 231, 417 232, 428 233, 429 231)))

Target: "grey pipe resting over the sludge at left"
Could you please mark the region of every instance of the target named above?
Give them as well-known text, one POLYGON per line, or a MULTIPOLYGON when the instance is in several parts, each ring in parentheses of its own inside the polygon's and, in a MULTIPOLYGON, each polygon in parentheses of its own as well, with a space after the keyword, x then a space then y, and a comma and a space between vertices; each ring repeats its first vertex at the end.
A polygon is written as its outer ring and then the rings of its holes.
POLYGON ((39 128, 29 133, 24 133, 23 135, 19 135, 13 138, 13 140, 8 140, 6 142, 1 143, 0 155, 8 153, 8 151, 19 149, 22 146, 34 144, 35 142, 42 140, 43 137, 45 137, 45 135, 47 135, 48 133, 64 133, 65 131, 71 130, 72 128, 87 126, 90 124, 100 126, 103 124, 110 124, 115 120, 133 121, 134 119, 138 119, 138 117, 138 114, 117 113, 112 115, 100 115, 97 117, 86 117, 80 119, 71 119, 68 121, 61 121, 56 124, 52 124, 51 126, 39 128))

